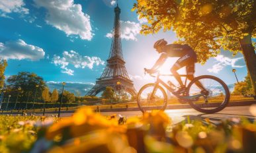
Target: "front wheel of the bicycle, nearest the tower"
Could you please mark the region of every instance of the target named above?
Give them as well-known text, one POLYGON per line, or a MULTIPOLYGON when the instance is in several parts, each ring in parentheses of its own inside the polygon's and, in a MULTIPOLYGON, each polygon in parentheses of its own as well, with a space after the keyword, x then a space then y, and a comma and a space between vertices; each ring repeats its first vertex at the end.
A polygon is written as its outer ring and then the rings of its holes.
POLYGON ((154 83, 150 83, 140 88, 137 102, 142 113, 152 110, 164 110, 167 105, 167 95, 161 86, 155 86, 154 83))

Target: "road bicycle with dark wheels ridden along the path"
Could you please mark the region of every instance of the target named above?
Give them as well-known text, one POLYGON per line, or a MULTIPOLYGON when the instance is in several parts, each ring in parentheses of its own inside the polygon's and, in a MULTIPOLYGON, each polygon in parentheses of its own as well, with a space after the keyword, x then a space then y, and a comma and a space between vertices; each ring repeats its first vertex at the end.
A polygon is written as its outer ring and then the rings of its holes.
MULTIPOLYGON (((144 70, 146 74, 146 69, 144 70)), ((187 85, 188 75, 180 75, 180 77, 186 77, 185 86, 187 90, 184 94, 177 95, 174 93, 177 87, 171 81, 169 81, 169 84, 166 84, 159 78, 161 76, 173 77, 173 75, 162 75, 159 71, 156 71, 156 73, 157 76, 149 74, 151 77, 156 77, 156 81, 145 84, 138 92, 137 103, 142 113, 153 109, 165 110, 167 107, 167 94, 163 86, 176 96, 179 102, 189 103, 193 109, 202 113, 216 113, 228 105, 230 91, 225 82, 218 77, 202 75, 195 77, 187 85), (202 84, 204 90, 196 85, 198 82, 202 84)))

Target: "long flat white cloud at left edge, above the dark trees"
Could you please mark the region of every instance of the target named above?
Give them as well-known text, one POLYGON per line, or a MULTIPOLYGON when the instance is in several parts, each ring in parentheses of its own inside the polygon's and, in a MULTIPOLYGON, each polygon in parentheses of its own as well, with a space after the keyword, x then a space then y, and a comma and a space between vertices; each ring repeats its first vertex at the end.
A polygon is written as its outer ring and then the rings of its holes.
POLYGON ((0 57, 3 59, 30 59, 38 61, 44 58, 44 49, 26 44, 24 40, 0 42, 0 57))

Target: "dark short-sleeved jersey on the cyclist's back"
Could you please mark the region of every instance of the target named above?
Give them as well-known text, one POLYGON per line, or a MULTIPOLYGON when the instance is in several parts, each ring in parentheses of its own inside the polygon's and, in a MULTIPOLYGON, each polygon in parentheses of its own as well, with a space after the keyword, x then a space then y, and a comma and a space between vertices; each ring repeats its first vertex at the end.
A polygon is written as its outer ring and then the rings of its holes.
POLYGON ((196 53, 194 53, 194 50, 187 44, 169 44, 163 47, 162 53, 167 55, 168 57, 183 57, 187 54, 194 55, 194 57, 196 57, 196 53))

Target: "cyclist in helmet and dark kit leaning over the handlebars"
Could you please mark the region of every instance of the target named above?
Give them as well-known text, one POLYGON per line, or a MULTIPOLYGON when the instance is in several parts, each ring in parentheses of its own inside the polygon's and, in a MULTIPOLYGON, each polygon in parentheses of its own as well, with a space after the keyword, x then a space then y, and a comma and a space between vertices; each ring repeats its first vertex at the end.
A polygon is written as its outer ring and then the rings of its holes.
MULTIPOLYGON (((180 57, 176 63, 171 67, 171 73, 173 73, 174 77, 180 84, 180 88, 173 92, 173 94, 183 94, 186 91, 185 85, 183 84, 181 77, 177 71, 182 67, 186 67, 187 78, 192 80, 194 78, 194 63, 197 62, 196 53, 194 50, 187 44, 169 44, 164 39, 157 40, 153 47, 156 49, 158 53, 161 53, 159 59, 155 62, 151 69, 146 69, 148 73, 155 73, 155 71, 163 65, 165 60, 168 57, 180 57)), ((202 84, 200 82, 196 82, 196 85, 204 90, 202 84), (200 87, 201 86, 201 87, 200 87)))

